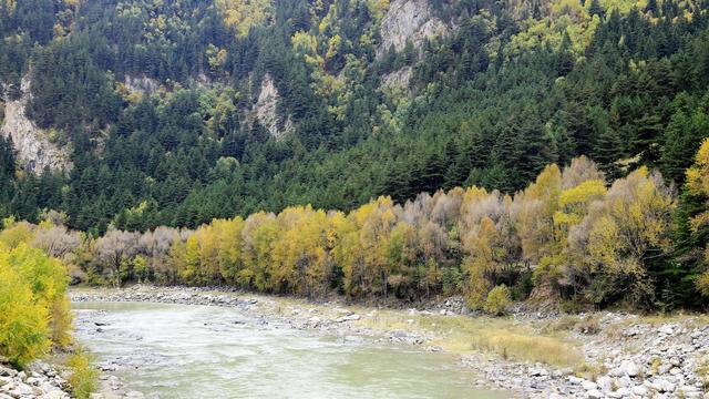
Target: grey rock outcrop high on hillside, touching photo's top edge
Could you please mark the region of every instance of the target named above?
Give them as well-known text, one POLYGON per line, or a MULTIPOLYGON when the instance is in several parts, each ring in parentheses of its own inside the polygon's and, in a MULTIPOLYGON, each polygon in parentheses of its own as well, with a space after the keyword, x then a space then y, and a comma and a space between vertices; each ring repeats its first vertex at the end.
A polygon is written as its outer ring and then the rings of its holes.
POLYGON ((446 33, 448 27, 432 13, 428 0, 394 0, 379 28, 382 42, 377 50, 377 58, 386 54, 391 47, 400 52, 411 40, 414 48, 420 49, 425 39, 433 39, 446 33))

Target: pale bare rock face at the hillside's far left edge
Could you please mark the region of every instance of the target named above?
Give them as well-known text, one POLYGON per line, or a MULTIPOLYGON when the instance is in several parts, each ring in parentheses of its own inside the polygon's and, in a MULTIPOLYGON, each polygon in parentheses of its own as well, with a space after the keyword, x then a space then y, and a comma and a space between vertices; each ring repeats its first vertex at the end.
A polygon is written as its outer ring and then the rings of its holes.
POLYGON ((25 171, 41 173, 44 167, 69 171, 72 167, 69 149, 52 143, 48 132, 39 129, 24 113, 29 100, 29 85, 30 81, 23 79, 22 96, 19 100, 6 101, 4 122, 0 132, 4 137, 12 139, 18 162, 25 171))

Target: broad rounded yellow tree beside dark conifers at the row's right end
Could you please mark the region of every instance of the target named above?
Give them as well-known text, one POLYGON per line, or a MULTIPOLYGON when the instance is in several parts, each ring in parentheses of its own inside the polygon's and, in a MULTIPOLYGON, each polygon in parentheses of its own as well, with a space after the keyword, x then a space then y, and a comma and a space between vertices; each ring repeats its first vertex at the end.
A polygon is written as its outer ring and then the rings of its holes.
POLYGON ((649 263, 669 249, 675 198, 659 174, 641 167, 617 180, 569 234, 593 278, 592 303, 650 305, 649 263))

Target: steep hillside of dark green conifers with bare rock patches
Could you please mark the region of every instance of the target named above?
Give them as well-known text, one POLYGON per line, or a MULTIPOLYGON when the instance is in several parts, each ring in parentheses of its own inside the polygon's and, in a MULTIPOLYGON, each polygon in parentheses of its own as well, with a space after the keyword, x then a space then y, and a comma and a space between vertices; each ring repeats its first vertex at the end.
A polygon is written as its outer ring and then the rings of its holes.
MULTIPOLYGON (((593 193, 641 176, 668 196, 658 253, 636 254, 661 284, 636 287, 634 300, 697 304, 706 197, 685 171, 709 135, 708 10, 706 0, 0 0, 0 214, 37 223, 56 211, 102 235, 294 205, 348 212, 380 195, 393 206, 459 186, 504 202, 546 165, 585 155, 599 168, 593 193)), ((564 250, 510 264, 572 263, 553 258, 564 250)), ((438 260, 460 272, 462 259, 438 260)), ((583 286, 549 274, 564 295, 583 286)), ((377 278, 387 294, 388 277, 377 278)))

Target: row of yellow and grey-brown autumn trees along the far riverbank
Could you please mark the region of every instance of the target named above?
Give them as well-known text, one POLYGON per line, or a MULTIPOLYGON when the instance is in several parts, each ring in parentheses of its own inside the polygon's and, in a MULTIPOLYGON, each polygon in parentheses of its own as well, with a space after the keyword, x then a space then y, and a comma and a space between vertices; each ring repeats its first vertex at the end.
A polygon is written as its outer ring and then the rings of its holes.
POLYGON ((91 284, 352 299, 462 294, 472 308, 504 286, 495 295, 578 308, 700 307, 709 296, 707 154, 709 141, 682 201, 657 172, 643 167, 608 187, 597 165, 579 157, 545 167, 514 196, 456 187, 403 205, 379 197, 347 214, 298 206, 197 229, 110 229, 95 239, 61 226, 58 214, 48 215, 53 224, 23 228, 91 284))

